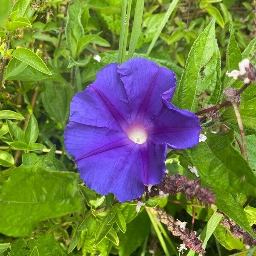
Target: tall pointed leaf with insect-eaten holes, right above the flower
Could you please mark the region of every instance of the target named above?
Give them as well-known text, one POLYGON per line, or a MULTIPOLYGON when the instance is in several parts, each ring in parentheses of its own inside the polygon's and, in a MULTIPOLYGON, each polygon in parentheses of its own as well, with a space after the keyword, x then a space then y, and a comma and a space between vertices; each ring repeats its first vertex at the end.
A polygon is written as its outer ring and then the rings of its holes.
MULTIPOLYGON (((217 59, 216 51, 218 51, 218 45, 215 39, 215 17, 213 17, 211 23, 198 36, 190 49, 177 90, 177 104, 180 108, 190 111, 198 109, 199 95, 208 87, 203 81, 204 69, 212 70, 214 77, 217 77, 217 71, 219 71, 219 67, 216 67, 218 62, 211 60, 217 59)), ((212 87, 215 88, 215 84, 212 84, 212 87)))

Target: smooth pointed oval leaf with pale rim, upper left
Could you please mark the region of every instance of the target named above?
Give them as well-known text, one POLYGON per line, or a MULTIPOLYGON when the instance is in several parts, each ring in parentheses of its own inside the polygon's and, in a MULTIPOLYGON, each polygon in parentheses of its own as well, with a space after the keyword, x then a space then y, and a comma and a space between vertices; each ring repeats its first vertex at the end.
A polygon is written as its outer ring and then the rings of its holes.
POLYGON ((32 50, 20 47, 14 50, 12 56, 20 61, 25 62, 29 66, 35 68, 42 73, 45 73, 47 75, 52 74, 44 61, 42 61, 42 59, 38 55, 36 55, 35 52, 32 52, 32 50))

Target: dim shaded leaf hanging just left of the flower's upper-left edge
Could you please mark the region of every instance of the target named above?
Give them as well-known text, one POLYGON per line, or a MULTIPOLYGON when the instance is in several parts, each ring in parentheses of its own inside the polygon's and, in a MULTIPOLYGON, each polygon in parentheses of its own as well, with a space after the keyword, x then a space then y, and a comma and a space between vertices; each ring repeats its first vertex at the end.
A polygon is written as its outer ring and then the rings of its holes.
POLYGON ((62 127, 69 117, 70 89, 67 85, 45 82, 45 90, 41 93, 44 108, 49 116, 62 127))

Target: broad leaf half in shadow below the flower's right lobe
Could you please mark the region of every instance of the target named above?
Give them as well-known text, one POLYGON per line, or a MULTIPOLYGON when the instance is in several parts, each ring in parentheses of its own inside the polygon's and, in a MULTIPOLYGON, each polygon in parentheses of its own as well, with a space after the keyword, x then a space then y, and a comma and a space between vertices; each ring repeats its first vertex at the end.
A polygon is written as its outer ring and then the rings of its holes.
POLYGON ((188 149, 189 160, 208 186, 233 194, 239 191, 245 195, 256 195, 256 175, 231 145, 233 141, 233 131, 228 134, 209 133, 204 143, 188 149))

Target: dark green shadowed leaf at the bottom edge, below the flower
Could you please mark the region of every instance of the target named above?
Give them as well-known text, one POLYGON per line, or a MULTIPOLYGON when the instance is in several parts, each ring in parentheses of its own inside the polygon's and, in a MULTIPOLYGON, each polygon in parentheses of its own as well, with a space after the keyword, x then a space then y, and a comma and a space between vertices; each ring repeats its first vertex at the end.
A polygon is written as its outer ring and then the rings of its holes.
POLYGON ((150 220, 143 211, 127 225, 125 234, 119 233, 119 255, 131 255, 143 243, 149 231, 150 220))

